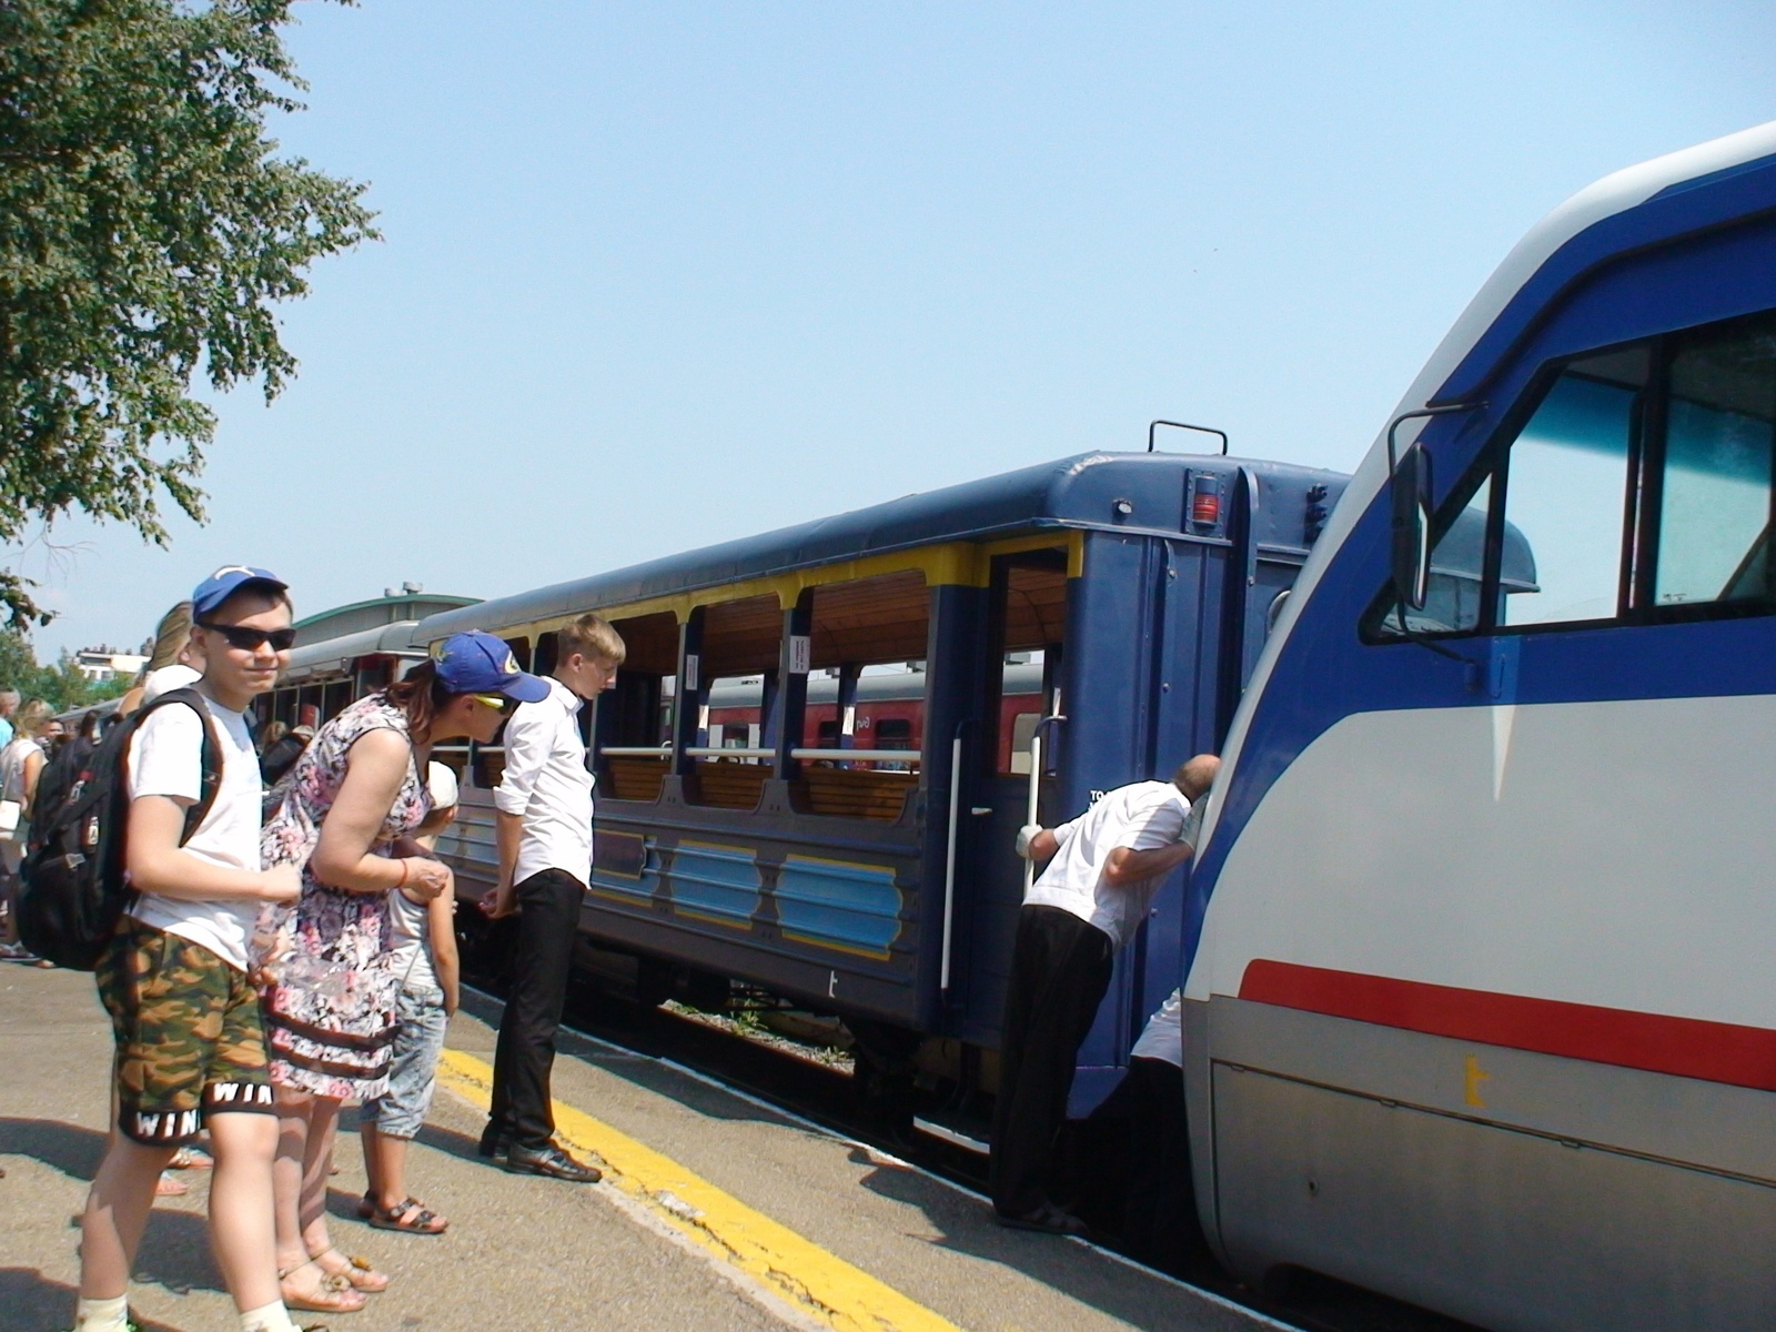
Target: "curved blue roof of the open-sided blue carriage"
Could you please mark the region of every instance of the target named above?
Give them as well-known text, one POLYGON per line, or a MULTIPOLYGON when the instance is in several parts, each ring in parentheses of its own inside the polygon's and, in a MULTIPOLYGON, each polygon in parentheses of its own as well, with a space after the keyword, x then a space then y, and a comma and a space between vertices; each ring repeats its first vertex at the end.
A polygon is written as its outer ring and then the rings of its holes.
POLYGON ((1218 455, 1080 453, 760 536, 742 536, 609 574, 442 611, 419 622, 416 641, 432 643, 464 629, 535 623, 858 556, 948 540, 984 540, 1032 527, 1099 527, 1179 536, 1185 472, 1233 474, 1238 467, 1275 481, 1295 478, 1302 485, 1323 481, 1341 487, 1346 480, 1341 472, 1218 455), (1119 499, 1130 501, 1135 511, 1119 519, 1114 510, 1119 499))

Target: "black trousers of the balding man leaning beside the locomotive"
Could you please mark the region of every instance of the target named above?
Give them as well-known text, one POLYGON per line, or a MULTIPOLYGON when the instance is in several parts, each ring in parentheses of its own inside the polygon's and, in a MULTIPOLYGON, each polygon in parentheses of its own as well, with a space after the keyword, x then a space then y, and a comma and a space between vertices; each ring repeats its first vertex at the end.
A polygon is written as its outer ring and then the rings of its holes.
POLYGON ((1018 909, 987 1172, 993 1206, 1007 1217, 1048 1201, 1055 1135, 1067 1117, 1080 1046, 1110 987, 1114 955, 1110 936, 1071 911, 1018 909))

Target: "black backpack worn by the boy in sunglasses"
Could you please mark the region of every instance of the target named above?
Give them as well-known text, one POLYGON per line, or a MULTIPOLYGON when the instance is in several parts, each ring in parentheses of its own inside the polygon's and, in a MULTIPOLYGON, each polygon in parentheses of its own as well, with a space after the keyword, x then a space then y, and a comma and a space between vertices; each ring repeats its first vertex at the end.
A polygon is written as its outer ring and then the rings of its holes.
POLYGON ((210 725, 210 709, 195 689, 169 689, 112 726, 57 803, 32 810, 32 849, 21 870, 18 936, 27 948, 57 966, 94 970, 130 902, 124 876, 130 739, 153 712, 174 703, 194 709, 204 723, 201 796, 185 812, 185 831, 179 835, 179 845, 185 845, 208 817, 222 781, 222 749, 210 725))

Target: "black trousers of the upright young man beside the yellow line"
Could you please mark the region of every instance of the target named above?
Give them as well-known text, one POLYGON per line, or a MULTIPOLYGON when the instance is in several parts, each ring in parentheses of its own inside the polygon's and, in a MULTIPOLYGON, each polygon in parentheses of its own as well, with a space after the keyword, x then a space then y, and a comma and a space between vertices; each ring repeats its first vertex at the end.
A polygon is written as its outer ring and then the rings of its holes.
POLYGON ((567 870, 543 870, 519 884, 519 943, 494 1053, 488 1137, 522 1147, 547 1147, 554 1138, 549 1071, 584 895, 586 884, 567 870))

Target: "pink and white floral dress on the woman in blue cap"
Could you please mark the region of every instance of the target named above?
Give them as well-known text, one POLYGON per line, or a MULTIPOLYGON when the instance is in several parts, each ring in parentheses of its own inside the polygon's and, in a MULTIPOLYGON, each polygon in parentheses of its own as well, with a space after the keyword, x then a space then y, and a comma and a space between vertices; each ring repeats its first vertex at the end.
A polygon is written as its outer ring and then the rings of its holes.
MULTIPOLYGON (((266 908, 254 940, 272 979, 265 989, 272 1082, 337 1101, 389 1089, 401 977, 391 964, 387 893, 329 888, 309 870, 309 856, 345 781, 352 746, 378 728, 407 737, 407 714, 382 694, 359 700, 321 726, 272 792, 259 836, 266 868, 302 865, 302 897, 266 908)), ((371 852, 389 854, 430 810, 419 764, 410 760, 371 852)))

